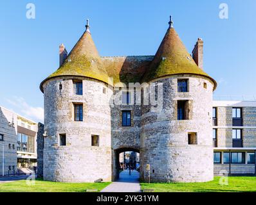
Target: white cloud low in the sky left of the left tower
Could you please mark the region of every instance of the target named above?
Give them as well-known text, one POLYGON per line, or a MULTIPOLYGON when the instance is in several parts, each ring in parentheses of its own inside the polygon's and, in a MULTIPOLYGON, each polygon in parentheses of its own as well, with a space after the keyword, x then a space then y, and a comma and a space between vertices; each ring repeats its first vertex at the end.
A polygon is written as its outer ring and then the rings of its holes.
MULTIPOLYGON (((7 102, 12 104, 14 108, 19 109, 19 114, 24 117, 32 118, 33 120, 44 122, 44 108, 30 106, 23 97, 12 97, 12 99, 6 99, 7 102)), ((14 110, 17 110, 14 109, 14 110)))

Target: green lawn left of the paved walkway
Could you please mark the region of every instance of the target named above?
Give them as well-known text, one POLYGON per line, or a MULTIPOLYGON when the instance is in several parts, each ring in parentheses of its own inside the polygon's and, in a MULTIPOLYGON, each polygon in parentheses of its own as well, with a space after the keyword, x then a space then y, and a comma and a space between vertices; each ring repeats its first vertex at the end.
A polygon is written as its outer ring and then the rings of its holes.
POLYGON ((26 180, 0 183, 0 192, 86 192, 102 190, 110 183, 59 183, 37 179, 35 184, 26 184, 26 180))

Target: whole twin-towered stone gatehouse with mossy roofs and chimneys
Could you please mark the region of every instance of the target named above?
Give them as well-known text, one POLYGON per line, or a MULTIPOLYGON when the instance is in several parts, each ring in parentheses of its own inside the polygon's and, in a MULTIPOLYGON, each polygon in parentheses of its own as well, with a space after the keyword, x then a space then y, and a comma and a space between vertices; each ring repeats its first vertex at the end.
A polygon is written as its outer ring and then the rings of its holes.
POLYGON ((152 182, 212 180, 217 83, 203 71, 202 49, 198 39, 190 56, 170 20, 154 56, 100 57, 87 23, 69 54, 60 46, 60 67, 40 86, 44 179, 113 181, 118 153, 136 151, 142 180, 148 164, 152 182), (129 83, 151 86, 120 87, 129 83))

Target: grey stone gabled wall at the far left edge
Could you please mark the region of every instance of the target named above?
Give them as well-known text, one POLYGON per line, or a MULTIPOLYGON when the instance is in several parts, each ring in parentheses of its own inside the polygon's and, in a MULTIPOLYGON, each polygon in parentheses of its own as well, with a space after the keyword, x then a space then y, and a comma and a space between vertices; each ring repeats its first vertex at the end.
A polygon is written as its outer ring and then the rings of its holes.
POLYGON ((8 174, 9 167, 10 174, 13 174, 14 170, 17 171, 17 115, 2 107, 0 107, 0 134, 4 135, 5 141, 0 141, 0 176, 3 175, 3 154, 4 174, 8 174))

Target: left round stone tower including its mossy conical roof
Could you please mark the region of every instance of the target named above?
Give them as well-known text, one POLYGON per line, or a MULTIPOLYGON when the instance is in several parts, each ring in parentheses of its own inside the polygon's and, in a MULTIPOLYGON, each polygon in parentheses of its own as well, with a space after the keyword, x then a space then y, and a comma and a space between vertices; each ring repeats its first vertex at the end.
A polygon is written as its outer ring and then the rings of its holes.
POLYGON ((60 68, 41 83, 49 181, 111 181, 113 94, 89 25, 60 68))

